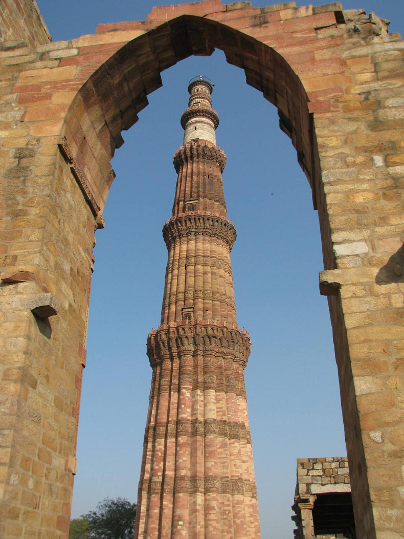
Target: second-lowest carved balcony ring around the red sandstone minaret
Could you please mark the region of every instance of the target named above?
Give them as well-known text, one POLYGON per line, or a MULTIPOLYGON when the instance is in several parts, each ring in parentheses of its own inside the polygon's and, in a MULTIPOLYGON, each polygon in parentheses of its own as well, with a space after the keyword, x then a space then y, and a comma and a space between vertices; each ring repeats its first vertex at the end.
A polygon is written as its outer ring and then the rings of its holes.
POLYGON ((237 233, 234 225, 226 219, 208 215, 187 215, 171 218, 163 227, 163 238, 167 248, 172 242, 184 236, 210 236, 233 247, 237 233))

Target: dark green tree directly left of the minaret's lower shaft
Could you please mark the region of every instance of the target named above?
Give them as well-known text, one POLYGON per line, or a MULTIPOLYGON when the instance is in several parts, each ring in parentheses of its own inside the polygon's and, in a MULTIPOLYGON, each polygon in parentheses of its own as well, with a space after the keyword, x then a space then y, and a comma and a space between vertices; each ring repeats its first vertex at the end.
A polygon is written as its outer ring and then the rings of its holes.
POLYGON ((133 539, 135 516, 136 504, 118 497, 106 498, 82 519, 88 524, 88 539, 133 539))

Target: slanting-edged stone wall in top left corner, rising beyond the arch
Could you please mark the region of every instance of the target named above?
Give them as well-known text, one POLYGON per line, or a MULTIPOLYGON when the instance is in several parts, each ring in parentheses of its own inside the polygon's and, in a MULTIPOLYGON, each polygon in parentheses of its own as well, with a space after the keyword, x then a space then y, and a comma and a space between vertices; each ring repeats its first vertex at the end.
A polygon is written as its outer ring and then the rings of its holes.
POLYGON ((0 51, 12 45, 8 42, 25 42, 33 49, 50 41, 52 38, 35 0, 2 0, 0 51))

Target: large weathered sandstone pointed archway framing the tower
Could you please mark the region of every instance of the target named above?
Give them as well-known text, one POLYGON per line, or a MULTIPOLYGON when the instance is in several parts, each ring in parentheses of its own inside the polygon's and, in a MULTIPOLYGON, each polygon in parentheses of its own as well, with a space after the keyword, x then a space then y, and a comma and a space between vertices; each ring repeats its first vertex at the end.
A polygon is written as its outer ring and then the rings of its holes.
POLYGON ((339 3, 218 0, 155 8, 145 22, 100 25, 72 42, 47 42, 40 21, 34 38, 24 23, 13 32, 2 68, 2 534, 67 534, 93 237, 114 177, 110 158, 161 86, 160 72, 219 48, 277 106, 312 186, 358 534, 398 537, 402 79, 398 63, 379 64, 400 54, 400 37, 339 3))

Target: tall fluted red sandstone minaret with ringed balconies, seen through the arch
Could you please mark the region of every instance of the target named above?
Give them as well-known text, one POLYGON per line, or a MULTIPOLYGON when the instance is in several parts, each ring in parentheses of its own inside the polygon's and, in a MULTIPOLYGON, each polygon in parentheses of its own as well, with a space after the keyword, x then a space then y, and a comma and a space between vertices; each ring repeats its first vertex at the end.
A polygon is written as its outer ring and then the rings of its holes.
POLYGON ((236 324, 212 82, 191 79, 172 217, 161 325, 148 337, 153 369, 135 539, 259 539, 243 371, 250 353, 236 324))

